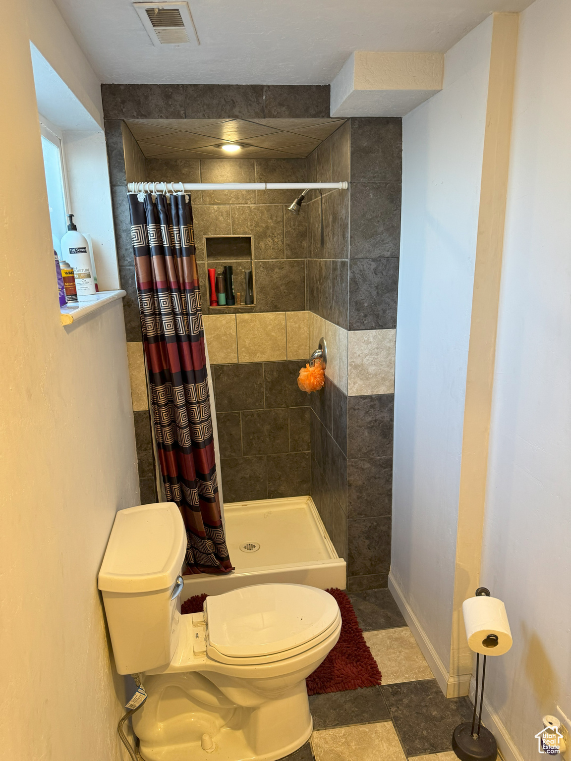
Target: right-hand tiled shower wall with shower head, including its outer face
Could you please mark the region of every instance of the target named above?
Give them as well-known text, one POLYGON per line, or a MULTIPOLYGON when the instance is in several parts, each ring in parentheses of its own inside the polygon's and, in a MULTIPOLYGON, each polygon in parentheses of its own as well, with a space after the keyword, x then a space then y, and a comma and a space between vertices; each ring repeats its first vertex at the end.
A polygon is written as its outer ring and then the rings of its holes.
POLYGON ((308 204, 311 495, 349 589, 387 585, 391 562, 394 340, 400 247, 400 119, 349 119, 308 157, 308 181, 350 180, 308 204))

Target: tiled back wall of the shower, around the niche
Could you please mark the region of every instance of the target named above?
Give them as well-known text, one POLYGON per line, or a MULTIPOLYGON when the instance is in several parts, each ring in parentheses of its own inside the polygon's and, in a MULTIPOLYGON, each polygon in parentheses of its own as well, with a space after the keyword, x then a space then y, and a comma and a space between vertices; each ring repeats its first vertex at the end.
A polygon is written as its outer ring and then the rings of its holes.
MULTIPOLYGON (((151 182, 295 183, 305 180, 305 159, 152 159, 146 172, 151 182)), ((309 492, 308 398, 296 382, 302 363, 291 361, 308 359, 307 215, 287 211, 296 195, 191 193, 226 502, 309 492), (219 235, 251 236, 251 307, 209 306, 205 237, 219 235)), ((234 291, 243 286, 234 277, 234 291)))

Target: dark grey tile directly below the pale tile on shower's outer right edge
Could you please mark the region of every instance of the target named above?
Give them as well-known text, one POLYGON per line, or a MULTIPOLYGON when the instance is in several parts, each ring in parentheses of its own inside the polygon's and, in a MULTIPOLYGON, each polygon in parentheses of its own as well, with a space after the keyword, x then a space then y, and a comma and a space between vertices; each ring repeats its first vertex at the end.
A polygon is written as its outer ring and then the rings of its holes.
POLYGON ((347 457, 392 457, 394 394, 349 396, 347 457))

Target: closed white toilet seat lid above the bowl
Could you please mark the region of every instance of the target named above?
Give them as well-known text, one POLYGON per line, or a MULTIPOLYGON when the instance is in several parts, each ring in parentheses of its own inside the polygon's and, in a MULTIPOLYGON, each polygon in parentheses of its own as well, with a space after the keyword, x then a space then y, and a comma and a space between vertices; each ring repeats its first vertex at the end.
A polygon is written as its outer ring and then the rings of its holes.
POLYGON ((323 642, 340 622, 327 592, 302 584, 259 584, 207 597, 207 654, 219 663, 282 661, 323 642))

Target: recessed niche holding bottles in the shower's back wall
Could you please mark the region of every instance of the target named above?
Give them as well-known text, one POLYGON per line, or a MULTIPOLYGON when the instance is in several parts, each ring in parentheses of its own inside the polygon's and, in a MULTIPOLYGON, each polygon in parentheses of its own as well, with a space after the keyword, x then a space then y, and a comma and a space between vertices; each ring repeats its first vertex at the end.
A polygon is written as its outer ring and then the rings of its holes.
POLYGON ((232 268, 232 295, 234 304, 219 303, 219 287, 212 292, 211 272, 209 272, 209 306, 213 311, 254 310, 256 303, 254 288, 254 268, 252 266, 252 237, 249 235, 211 235, 205 237, 206 268, 215 270, 215 284, 224 282, 228 297, 225 268, 232 268), (220 277, 222 276, 222 281, 220 277), (249 292, 248 292, 249 291, 249 292))

